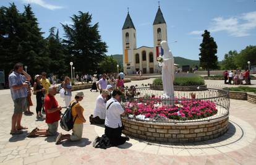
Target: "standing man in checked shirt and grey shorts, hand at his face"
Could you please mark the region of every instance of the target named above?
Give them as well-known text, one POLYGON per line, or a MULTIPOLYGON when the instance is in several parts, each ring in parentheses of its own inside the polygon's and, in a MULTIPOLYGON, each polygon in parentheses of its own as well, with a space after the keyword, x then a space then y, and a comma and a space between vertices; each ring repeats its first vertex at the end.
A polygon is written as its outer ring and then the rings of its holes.
POLYGON ((29 81, 31 77, 23 70, 23 64, 17 63, 8 79, 12 99, 14 101, 14 114, 12 115, 12 129, 10 134, 15 135, 23 133, 23 129, 28 129, 27 127, 22 127, 20 122, 22 119, 22 112, 27 109, 28 83, 25 83, 25 81, 29 81))

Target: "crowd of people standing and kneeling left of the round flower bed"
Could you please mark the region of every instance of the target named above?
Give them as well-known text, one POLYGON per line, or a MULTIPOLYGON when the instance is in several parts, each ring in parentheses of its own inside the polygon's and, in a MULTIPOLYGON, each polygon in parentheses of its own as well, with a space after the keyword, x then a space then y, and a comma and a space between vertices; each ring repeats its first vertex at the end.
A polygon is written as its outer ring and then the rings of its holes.
MULTIPOLYGON (((94 113, 90 116, 91 124, 105 124, 105 134, 102 137, 97 137, 93 146, 100 148, 108 148, 110 146, 121 145, 129 140, 127 137, 121 137, 123 129, 121 115, 124 114, 120 101, 124 91, 124 77, 119 76, 117 79, 113 75, 107 77, 103 74, 100 80, 97 80, 97 75, 93 75, 92 90, 100 91, 100 95, 96 98, 96 106, 94 113), (107 79, 108 78, 108 79, 107 79), (103 143, 108 142, 108 144, 103 143), (102 146, 102 147, 101 147, 102 146)), ((83 116, 83 107, 80 101, 83 100, 83 92, 76 91, 74 99, 72 100, 72 85, 70 78, 65 77, 62 82, 62 90, 64 90, 65 105, 69 106, 72 112, 72 120, 74 126, 72 127, 72 134, 63 135, 58 133, 59 120, 61 119, 61 112, 64 107, 59 106, 58 101, 54 97, 57 93, 57 87, 52 86, 46 73, 42 72, 41 75, 35 75, 35 83, 30 85, 30 77, 27 72, 23 70, 23 64, 17 63, 14 70, 9 74, 9 87, 11 89, 11 96, 14 101, 14 114, 12 115, 12 128, 11 135, 24 133, 27 130, 21 124, 22 114, 33 114, 28 109, 32 106, 31 93, 36 95, 36 118, 44 117, 48 129, 39 129, 36 127, 27 137, 38 136, 56 136, 56 144, 64 140, 77 141, 82 139, 83 123, 86 122, 83 116), (31 89, 33 87, 33 90, 31 89)))

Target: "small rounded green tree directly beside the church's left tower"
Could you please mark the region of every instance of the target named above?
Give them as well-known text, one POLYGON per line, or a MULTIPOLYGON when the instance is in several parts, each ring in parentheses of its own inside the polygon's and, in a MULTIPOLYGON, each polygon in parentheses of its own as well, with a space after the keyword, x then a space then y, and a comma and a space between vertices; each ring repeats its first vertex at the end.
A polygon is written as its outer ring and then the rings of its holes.
MULTIPOLYGON (((117 61, 112 56, 104 56, 104 59, 99 64, 100 73, 116 73, 117 72, 117 61)), ((120 69, 120 67, 119 67, 120 69)), ((119 70, 121 72, 121 70, 119 70)))

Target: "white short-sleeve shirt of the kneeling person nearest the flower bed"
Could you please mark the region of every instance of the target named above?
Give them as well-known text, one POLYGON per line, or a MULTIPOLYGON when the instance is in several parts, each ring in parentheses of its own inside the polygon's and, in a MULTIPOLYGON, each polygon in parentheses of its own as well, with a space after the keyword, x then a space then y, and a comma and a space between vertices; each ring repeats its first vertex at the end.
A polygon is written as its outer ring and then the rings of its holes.
POLYGON ((114 98, 109 99, 106 103, 105 125, 112 129, 122 127, 122 121, 121 121, 122 113, 124 113, 124 109, 122 108, 121 104, 114 98), (112 104, 109 106, 110 103, 112 104))

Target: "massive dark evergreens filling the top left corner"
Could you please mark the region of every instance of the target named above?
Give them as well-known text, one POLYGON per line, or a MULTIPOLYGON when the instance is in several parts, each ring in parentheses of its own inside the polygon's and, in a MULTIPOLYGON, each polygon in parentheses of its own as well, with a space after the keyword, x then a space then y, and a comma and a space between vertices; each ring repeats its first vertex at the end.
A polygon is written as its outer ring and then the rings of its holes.
POLYGON ((46 41, 41 36, 31 7, 21 14, 14 3, 0 9, 0 60, 8 75, 15 63, 28 66, 29 74, 48 71, 49 57, 46 41))

